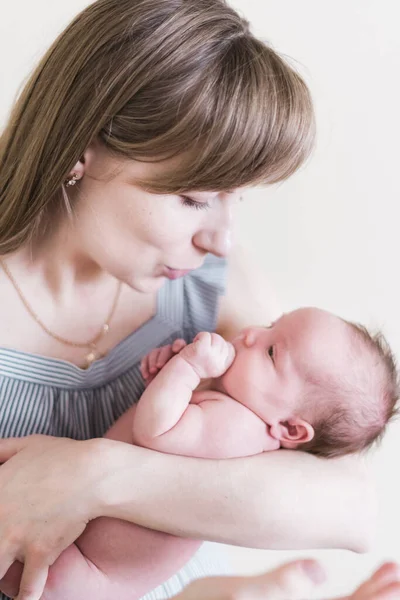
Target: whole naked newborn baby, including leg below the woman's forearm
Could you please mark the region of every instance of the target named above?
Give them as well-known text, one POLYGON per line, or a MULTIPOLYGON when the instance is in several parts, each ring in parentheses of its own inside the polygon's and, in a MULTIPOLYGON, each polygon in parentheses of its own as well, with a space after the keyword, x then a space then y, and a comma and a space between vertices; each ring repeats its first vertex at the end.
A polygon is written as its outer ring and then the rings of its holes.
MULTIPOLYGON (((176 340, 141 370, 147 389, 106 437, 203 458, 363 450, 382 435, 398 394, 383 338, 315 308, 245 329, 232 343, 210 333, 176 340)), ((43 600, 135 600, 200 544, 96 519, 50 569, 43 600)))

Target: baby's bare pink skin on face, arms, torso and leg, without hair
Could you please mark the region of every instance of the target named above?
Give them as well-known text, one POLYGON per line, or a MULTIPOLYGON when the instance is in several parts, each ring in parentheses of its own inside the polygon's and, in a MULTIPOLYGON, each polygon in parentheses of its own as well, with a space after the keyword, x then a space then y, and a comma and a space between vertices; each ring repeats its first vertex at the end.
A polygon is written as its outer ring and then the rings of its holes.
MULTIPOLYGON (((189 345, 176 340, 143 359, 148 387, 106 437, 211 459, 301 447, 313 431, 296 416, 303 378, 310 372, 321 378, 325 364, 344 360, 347 341, 343 322, 314 308, 284 315, 268 328, 246 328, 232 343, 208 332, 189 345), (335 343, 324 355, 327 333, 335 343), (208 382, 206 389, 199 389, 201 381, 208 382)), ((117 594, 135 600, 168 579, 198 547, 195 540, 96 519, 51 567, 44 598, 106 600, 117 594)), ((11 579, 9 574, 14 586, 11 579)))

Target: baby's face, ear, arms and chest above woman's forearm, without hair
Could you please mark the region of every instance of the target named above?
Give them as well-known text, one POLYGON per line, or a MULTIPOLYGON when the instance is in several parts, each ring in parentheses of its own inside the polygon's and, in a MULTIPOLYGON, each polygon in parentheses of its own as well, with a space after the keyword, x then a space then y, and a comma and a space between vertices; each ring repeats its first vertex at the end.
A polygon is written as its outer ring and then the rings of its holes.
POLYGON ((320 408, 304 404, 310 375, 320 382, 352 375, 349 328, 316 308, 285 314, 269 327, 245 328, 231 344, 216 334, 201 333, 193 344, 184 345, 176 340, 143 359, 142 374, 150 383, 179 352, 139 402, 135 443, 211 458, 301 448, 314 435, 314 409, 320 408), (213 378, 209 391, 195 392, 200 380, 209 377, 213 378), (171 406, 167 399, 174 392, 171 406), (206 422, 201 407, 207 407, 206 422), (239 430, 240 435, 229 441, 231 430, 239 430), (204 431, 202 440, 197 439, 200 431, 204 431), (219 456, 223 432, 228 441, 219 456))

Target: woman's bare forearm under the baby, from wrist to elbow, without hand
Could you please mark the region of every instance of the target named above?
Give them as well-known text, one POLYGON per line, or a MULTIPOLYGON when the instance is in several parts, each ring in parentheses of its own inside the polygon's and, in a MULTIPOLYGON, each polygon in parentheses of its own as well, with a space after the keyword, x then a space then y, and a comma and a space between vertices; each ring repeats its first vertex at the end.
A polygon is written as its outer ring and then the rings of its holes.
POLYGON ((254 548, 363 552, 371 544, 375 496, 358 457, 280 450, 206 460, 94 442, 102 465, 94 517, 254 548))

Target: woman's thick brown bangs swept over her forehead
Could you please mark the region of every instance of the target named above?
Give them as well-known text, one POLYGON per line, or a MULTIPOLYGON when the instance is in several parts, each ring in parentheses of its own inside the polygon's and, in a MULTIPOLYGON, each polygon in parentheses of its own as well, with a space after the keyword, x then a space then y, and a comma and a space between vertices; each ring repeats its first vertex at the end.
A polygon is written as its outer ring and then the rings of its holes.
POLYGON ((154 143, 163 149, 159 160, 178 160, 156 181, 139 182, 156 193, 277 183, 313 147, 314 112, 305 83, 268 46, 246 37, 231 40, 223 59, 207 66, 176 114, 163 143, 154 143))

